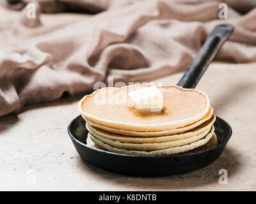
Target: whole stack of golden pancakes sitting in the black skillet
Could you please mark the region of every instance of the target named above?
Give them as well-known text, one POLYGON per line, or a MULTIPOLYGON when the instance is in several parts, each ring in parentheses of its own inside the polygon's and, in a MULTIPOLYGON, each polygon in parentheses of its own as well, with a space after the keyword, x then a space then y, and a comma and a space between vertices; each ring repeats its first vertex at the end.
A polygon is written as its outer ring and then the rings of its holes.
POLYGON ((132 109, 128 92, 149 85, 107 87, 84 96, 79 110, 86 120, 87 145, 121 154, 161 156, 216 145, 216 119, 209 98, 196 89, 157 87, 164 111, 142 114, 132 109))

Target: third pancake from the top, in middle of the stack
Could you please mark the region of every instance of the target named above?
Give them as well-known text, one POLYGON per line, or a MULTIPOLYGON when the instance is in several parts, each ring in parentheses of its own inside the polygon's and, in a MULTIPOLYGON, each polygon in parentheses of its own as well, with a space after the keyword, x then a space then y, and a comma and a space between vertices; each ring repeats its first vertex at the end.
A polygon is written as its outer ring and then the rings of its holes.
POLYGON ((136 136, 124 136, 124 135, 117 135, 115 133, 109 133, 108 131, 104 131, 99 128, 95 128, 93 126, 90 126, 89 124, 86 124, 86 128, 92 135, 98 135, 103 138, 114 140, 116 142, 125 142, 125 143, 161 143, 161 142, 170 142, 174 140, 183 140, 186 138, 191 138, 192 136, 196 136, 202 132, 204 132, 206 129, 211 129, 212 124, 215 121, 215 115, 213 115, 214 119, 210 122, 205 122, 201 126, 198 126, 195 129, 192 129, 191 131, 187 131, 186 133, 180 133, 177 135, 167 135, 167 136, 150 136, 150 137, 136 137, 136 136))

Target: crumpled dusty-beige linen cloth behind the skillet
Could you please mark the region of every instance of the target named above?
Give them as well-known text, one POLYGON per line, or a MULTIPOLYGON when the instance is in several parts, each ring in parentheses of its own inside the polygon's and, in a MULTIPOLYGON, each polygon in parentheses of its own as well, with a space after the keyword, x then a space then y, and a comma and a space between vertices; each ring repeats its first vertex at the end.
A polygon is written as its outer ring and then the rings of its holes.
POLYGON ((217 59, 256 61, 253 1, 45 0, 37 1, 35 19, 26 17, 28 2, 2 1, 22 11, 16 21, 0 24, 0 116, 63 93, 92 91, 108 77, 145 82, 184 71, 216 24, 236 27, 217 59), (218 17, 223 2, 227 20, 218 17), (102 12, 45 27, 40 11, 102 12))

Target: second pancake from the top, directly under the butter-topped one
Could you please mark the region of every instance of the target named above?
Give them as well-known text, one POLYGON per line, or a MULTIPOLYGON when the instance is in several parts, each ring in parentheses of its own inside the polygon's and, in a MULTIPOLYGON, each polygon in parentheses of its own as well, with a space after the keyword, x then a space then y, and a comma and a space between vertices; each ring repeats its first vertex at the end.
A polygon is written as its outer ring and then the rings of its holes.
POLYGON ((126 135, 126 136, 140 136, 140 137, 149 137, 149 136, 165 136, 165 135, 174 135, 178 133, 184 133, 186 131, 189 131, 191 129, 195 129, 196 127, 200 126, 206 126, 207 124, 213 124, 216 117, 215 115, 212 115, 213 109, 210 106, 209 112, 205 115, 205 117, 201 120, 198 120, 197 122, 194 122, 193 124, 190 124, 188 126, 184 126, 182 128, 176 128, 176 129, 170 129, 166 131, 129 131, 124 129, 116 129, 116 128, 109 128, 107 126, 102 126, 100 124, 97 124, 95 122, 92 122, 90 120, 86 119, 86 123, 88 123, 90 126, 108 131, 110 133, 115 133, 118 135, 126 135))

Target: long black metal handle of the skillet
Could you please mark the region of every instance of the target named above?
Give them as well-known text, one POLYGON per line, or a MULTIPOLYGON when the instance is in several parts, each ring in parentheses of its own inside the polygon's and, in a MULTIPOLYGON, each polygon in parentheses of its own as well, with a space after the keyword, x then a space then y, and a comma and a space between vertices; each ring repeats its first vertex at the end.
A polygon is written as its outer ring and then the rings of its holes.
POLYGON ((208 68, 225 41, 234 31, 234 26, 230 24, 216 25, 209 34, 201 50, 191 62, 177 85, 187 89, 193 89, 208 68))

